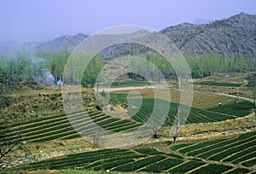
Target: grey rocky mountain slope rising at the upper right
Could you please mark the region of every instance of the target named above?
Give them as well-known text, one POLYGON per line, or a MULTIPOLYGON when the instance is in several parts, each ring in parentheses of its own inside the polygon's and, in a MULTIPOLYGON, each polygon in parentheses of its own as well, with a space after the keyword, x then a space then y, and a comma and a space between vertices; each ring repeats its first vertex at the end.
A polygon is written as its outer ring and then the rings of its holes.
POLYGON ((256 51, 256 15, 236 14, 206 25, 183 23, 160 32, 172 38, 185 54, 247 55, 256 51))

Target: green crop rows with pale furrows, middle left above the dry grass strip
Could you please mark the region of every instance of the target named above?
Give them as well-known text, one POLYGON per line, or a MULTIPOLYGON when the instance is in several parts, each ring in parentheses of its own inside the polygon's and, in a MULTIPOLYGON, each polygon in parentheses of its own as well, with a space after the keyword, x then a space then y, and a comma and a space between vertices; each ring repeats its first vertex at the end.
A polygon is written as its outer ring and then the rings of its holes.
POLYGON ((22 140, 33 141, 35 139, 34 142, 49 141, 54 138, 61 138, 62 136, 67 136, 69 138, 78 137, 79 135, 76 131, 73 131, 73 127, 76 128, 77 131, 82 133, 85 132, 84 134, 88 135, 93 133, 93 131, 90 130, 95 127, 92 121, 97 122, 98 125, 101 125, 106 129, 109 128, 114 131, 125 131, 126 129, 138 126, 129 120, 114 119, 104 113, 94 111, 90 111, 90 118, 88 116, 85 117, 84 113, 77 113, 76 115, 73 115, 71 120, 68 120, 65 116, 54 119, 55 122, 53 123, 52 121, 53 119, 50 119, 36 122, 33 125, 19 127, 19 131, 15 131, 12 134, 9 133, 7 141, 15 137, 20 138, 20 134, 22 134, 22 140), (71 121, 73 127, 69 124, 69 121, 71 121))

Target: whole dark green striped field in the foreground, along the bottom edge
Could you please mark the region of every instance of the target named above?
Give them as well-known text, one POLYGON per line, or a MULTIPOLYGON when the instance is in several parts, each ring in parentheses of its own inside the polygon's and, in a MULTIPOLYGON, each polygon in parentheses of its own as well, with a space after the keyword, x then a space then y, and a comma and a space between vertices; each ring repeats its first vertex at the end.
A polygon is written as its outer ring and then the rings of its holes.
POLYGON ((255 170, 255 136, 256 131, 252 131, 237 137, 177 144, 171 147, 170 153, 155 148, 135 148, 69 154, 57 159, 35 162, 24 169, 247 173, 255 170))

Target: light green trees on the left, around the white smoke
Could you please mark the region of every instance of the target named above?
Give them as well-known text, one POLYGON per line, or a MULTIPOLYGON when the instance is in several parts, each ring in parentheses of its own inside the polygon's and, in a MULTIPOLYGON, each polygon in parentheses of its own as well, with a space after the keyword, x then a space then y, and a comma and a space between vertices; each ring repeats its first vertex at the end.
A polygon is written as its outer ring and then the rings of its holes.
MULTIPOLYGON (((9 74, 11 77, 19 79, 19 81, 32 81, 39 78, 49 78, 49 73, 55 79, 55 83, 62 81, 63 71, 67 60, 71 54, 67 51, 60 51, 56 53, 38 52, 37 55, 30 55, 28 53, 20 53, 19 55, 0 55, 0 69, 1 74, 9 74), (49 72, 49 73, 47 73, 49 72)), ((76 59, 73 64, 77 68, 81 67, 84 55, 76 59)), ((96 55, 84 70, 82 85, 84 87, 91 86, 96 83, 97 74, 103 67, 102 55, 96 55)), ((77 74, 71 72, 72 81, 80 82, 77 74)), ((6 76, 7 77, 7 76, 6 76)), ((47 80, 44 80, 47 81, 47 80)))

